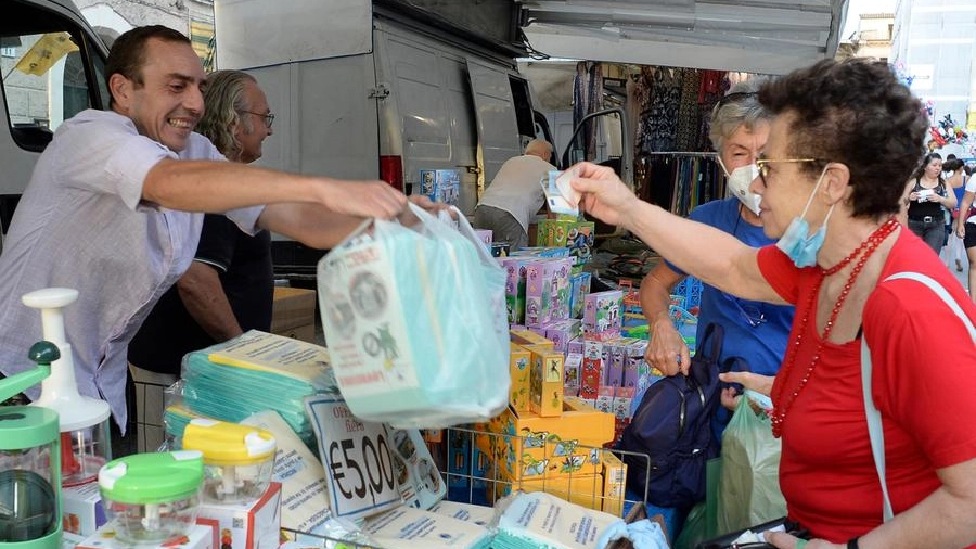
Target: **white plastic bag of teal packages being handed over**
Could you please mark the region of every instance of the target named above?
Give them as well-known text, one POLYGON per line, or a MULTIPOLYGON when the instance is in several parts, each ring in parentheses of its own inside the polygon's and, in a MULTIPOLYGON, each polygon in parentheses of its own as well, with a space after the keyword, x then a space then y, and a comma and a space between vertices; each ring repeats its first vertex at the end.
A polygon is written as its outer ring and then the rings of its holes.
POLYGON ((373 220, 319 261, 337 384, 400 429, 486 421, 509 395, 505 272, 463 215, 455 230, 411 208, 418 227, 373 220))

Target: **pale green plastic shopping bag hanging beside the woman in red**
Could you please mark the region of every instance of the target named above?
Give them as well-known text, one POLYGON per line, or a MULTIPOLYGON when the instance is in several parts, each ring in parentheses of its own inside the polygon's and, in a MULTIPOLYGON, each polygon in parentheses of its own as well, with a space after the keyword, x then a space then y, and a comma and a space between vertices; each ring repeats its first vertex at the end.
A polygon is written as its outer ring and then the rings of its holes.
POLYGON ((780 491, 780 439, 769 417, 743 395, 722 434, 718 532, 743 529, 786 514, 780 491))

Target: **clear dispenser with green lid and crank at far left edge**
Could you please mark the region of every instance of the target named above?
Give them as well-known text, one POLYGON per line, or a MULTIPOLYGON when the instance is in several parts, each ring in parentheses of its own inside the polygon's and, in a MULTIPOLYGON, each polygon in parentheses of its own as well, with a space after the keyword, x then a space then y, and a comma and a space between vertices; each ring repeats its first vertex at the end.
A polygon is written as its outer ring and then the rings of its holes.
MULTIPOLYGON (((0 401, 51 373, 57 347, 30 347, 38 368, 0 380, 0 401)), ((0 549, 60 549, 61 438, 57 413, 37 406, 0 407, 0 549)))

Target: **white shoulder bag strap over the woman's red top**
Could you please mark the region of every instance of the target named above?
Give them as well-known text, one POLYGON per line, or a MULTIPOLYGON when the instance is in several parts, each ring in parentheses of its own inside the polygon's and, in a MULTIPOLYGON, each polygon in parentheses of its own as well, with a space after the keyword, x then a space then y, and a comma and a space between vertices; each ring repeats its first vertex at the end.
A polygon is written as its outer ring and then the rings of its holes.
MULTIPOLYGON (((886 278, 884 281, 909 279, 920 282, 928 286, 936 295, 938 295, 946 305, 966 325, 969 331, 969 337, 976 341, 976 327, 969 321, 962 310, 962 307, 955 303, 955 299, 936 282, 933 278, 919 272, 898 272, 886 278)), ((868 434, 871 437, 871 454, 874 456, 874 465, 877 469, 877 477, 882 485, 882 497, 884 498, 883 518, 885 522, 890 521, 895 513, 891 509, 891 500, 888 497, 888 483, 885 481, 885 432, 882 427, 881 412, 874 406, 874 399, 871 398, 871 352, 868 349, 868 341, 861 336, 861 384, 864 390, 864 413, 868 417, 868 434)))

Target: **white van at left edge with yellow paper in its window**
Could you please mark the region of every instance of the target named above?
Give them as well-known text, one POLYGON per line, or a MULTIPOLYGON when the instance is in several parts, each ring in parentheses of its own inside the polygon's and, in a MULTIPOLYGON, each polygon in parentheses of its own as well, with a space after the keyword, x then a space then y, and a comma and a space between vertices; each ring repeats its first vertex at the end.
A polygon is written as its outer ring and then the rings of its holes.
POLYGON ((106 55, 70 0, 0 2, 0 237, 57 126, 107 108, 106 55))

